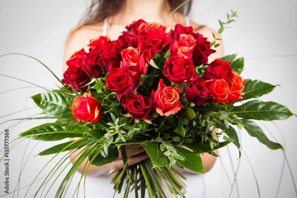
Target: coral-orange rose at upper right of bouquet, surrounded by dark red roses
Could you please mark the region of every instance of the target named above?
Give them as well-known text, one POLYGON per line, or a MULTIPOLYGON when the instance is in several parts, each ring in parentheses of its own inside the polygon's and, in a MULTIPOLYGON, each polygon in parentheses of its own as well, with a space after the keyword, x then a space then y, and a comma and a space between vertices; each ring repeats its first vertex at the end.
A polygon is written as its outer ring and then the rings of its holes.
POLYGON ((192 58, 195 45, 196 40, 191 35, 181 34, 179 39, 173 42, 170 53, 171 55, 175 56, 185 56, 185 58, 192 58))

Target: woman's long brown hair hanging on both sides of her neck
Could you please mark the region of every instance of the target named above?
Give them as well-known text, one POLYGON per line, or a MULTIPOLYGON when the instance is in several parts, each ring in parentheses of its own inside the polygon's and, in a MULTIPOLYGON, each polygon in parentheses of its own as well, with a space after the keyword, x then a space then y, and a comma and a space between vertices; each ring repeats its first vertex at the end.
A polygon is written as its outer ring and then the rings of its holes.
MULTIPOLYGON (((170 6, 173 11, 186 0, 167 0, 163 3, 164 7, 170 6)), ((124 0, 92 0, 90 7, 87 9, 85 16, 80 20, 81 25, 91 25, 102 22, 107 15, 113 16, 123 7, 124 0)), ((192 1, 187 2, 178 12, 188 15, 192 6, 192 1)))

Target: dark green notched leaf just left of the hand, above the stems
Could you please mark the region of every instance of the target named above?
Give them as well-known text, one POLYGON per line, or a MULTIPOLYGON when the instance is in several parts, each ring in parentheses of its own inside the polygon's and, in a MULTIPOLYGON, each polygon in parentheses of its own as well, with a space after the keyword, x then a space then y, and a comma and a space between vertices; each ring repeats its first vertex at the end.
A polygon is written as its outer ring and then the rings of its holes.
POLYGON ((101 155, 100 151, 95 150, 89 156, 89 161, 91 161, 95 155, 96 155, 96 157, 91 162, 91 164, 94 165, 94 166, 99 167, 99 166, 102 166, 104 164, 111 163, 111 162, 115 161, 116 159, 118 159, 119 158, 119 151, 118 151, 117 147, 113 147, 112 145, 110 145, 108 147, 108 156, 104 157, 104 156, 101 155))

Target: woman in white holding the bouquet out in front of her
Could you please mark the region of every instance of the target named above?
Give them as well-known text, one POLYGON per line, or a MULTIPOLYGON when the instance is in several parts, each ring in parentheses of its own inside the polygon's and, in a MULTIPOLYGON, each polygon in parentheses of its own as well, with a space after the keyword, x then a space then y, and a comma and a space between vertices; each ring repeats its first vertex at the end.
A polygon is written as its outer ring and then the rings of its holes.
MULTIPOLYGON (((167 31, 174 29, 177 23, 183 26, 192 26, 193 32, 199 32, 204 37, 208 37, 209 41, 213 40, 212 33, 218 35, 217 32, 201 26, 190 21, 185 15, 189 13, 191 8, 191 2, 188 2, 183 7, 174 12, 167 20, 166 18, 170 13, 182 4, 185 0, 93 0, 89 12, 86 14, 84 22, 74 28, 68 35, 64 57, 64 71, 67 70, 66 61, 71 57, 75 51, 79 51, 84 48, 87 51, 86 45, 89 44, 90 39, 96 38, 100 35, 108 35, 110 40, 118 39, 122 31, 125 31, 125 26, 131 24, 133 20, 143 19, 147 22, 163 23, 167 27, 167 31), (98 6, 98 7, 96 7, 98 6), (68 53, 66 53, 66 51, 68 53)), ((219 36, 217 38, 220 38, 219 36)), ((214 58, 223 57, 223 47, 221 40, 218 40, 221 45, 216 48, 217 52, 209 57, 209 61, 214 58)), ((76 138, 72 138, 76 140, 76 138)), ((135 145, 126 147, 127 156, 130 155, 135 145)), ((142 161, 149 156, 147 155, 143 147, 139 147, 133 153, 133 156, 129 160, 129 165, 142 161)), ((73 158, 73 157, 71 157, 73 158)), ((216 157, 209 155, 208 153, 201 155, 204 172, 207 172, 213 166, 216 157)), ((73 160, 75 161, 75 159, 73 160)), ((85 162, 87 163, 87 161, 85 162)), ((78 172, 82 172, 85 164, 82 164, 78 172)), ((118 170, 124 167, 121 159, 121 154, 118 160, 106 164, 102 167, 90 166, 88 170, 89 177, 86 179, 86 197, 97 197, 100 193, 100 197, 112 197, 113 186, 108 180, 108 170, 118 170), (98 176, 98 177, 97 177, 98 176), (92 194, 93 193, 93 194, 92 194), (89 195, 89 196, 88 196, 89 195), (104 196, 103 196, 104 195, 104 196)), ((205 197, 204 176, 197 174, 190 170, 180 170, 182 174, 187 177, 184 183, 188 186, 187 197, 205 197)), ((80 178, 80 175, 78 175, 80 178)), ((79 189, 79 194, 83 195, 83 185, 79 189)), ((134 194, 129 194, 129 197, 133 197, 134 194)), ((119 196, 121 197, 121 196, 119 196)))

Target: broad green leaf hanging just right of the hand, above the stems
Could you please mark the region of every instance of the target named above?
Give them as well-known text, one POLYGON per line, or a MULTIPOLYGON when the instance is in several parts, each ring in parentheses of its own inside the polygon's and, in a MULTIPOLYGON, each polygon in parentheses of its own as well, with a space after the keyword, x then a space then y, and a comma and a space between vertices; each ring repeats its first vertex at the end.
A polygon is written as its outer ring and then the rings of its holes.
POLYGON ((168 157, 165 156, 159 149, 159 146, 154 142, 145 142, 143 148, 148 153, 154 167, 164 167, 169 165, 168 157))

